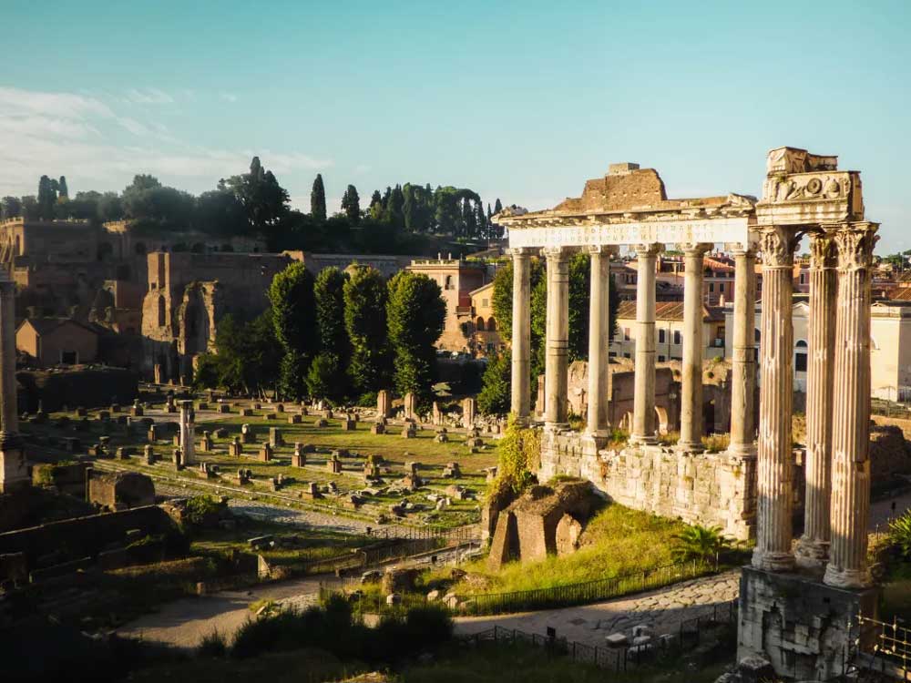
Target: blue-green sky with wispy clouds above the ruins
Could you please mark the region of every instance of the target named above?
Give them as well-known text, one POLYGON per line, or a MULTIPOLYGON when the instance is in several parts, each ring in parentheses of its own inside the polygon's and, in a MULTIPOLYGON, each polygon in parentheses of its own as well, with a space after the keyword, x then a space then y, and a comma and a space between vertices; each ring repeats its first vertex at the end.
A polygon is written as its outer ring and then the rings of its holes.
POLYGON ((317 172, 335 205, 412 181, 543 209, 616 161, 758 195, 792 145, 861 170, 879 251, 911 249, 907 2, 0 0, 0 25, 0 195, 200 192, 258 154, 305 210, 317 172))

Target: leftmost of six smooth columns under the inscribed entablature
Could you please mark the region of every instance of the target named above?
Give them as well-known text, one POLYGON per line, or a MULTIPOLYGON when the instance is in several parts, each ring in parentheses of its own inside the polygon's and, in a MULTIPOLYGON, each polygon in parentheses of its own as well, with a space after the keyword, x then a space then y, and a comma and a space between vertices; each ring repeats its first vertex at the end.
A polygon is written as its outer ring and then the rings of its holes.
POLYGON ((531 249, 512 249, 512 413, 516 422, 528 423, 531 413, 531 249))

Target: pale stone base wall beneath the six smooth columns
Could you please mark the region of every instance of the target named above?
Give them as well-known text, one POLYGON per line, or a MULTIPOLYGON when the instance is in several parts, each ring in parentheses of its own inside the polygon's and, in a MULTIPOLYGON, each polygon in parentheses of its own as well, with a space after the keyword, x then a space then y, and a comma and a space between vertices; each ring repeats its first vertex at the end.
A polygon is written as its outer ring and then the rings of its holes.
MULTIPOLYGON (((755 466, 750 458, 681 453, 665 446, 596 453, 579 433, 545 431, 537 474, 542 482, 558 474, 579 476, 620 505, 721 526, 725 535, 747 539, 754 535, 755 466)), ((795 468, 795 493, 803 488, 802 472, 795 468)))

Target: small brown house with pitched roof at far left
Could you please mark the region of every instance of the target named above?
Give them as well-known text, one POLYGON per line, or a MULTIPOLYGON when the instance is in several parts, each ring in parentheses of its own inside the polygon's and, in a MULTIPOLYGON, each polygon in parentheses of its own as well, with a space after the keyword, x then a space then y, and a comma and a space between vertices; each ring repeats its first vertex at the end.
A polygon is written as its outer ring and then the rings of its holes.
POLYGON ((38 367, 95 362, 98 331, 68 318, 33 318, 16 329, 15 350, 38 367))

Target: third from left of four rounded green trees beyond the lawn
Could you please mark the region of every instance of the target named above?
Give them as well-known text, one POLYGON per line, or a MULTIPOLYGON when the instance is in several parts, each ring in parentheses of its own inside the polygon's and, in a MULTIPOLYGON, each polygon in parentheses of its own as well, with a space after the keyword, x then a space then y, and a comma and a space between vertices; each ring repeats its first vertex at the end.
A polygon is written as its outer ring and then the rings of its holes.
POLYGON ((374 268, 358 268, 343 291, 345 331, 351 342, 348 377, 358 395, 376 392, 388 375, 383 276, 374 268))

